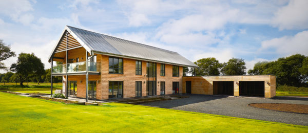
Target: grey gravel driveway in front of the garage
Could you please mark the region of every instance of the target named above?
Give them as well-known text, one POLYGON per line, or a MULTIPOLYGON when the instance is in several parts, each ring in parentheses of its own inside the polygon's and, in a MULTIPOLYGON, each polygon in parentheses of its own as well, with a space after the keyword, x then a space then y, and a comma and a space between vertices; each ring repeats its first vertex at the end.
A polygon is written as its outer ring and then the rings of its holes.
POLYGON ((308 104, 308 98, 276 97, 275 99, 264 99, 189 95, 189 98, 144 103, 141 105, 308 126, 308 115, 255 108, 248 106, 249 103, 308 104))

